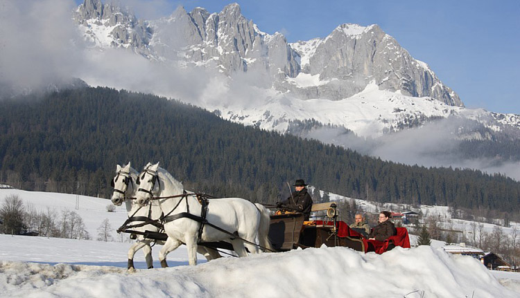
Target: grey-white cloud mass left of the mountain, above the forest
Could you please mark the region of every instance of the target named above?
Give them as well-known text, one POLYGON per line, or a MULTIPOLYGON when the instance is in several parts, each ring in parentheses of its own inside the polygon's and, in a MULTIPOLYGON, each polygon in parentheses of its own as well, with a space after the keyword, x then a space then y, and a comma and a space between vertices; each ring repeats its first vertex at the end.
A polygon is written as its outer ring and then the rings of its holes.
POLYGON ((75 75, 82 44, 70 0, 6 0, 0 11, 0 80, 40 86, 75 75))

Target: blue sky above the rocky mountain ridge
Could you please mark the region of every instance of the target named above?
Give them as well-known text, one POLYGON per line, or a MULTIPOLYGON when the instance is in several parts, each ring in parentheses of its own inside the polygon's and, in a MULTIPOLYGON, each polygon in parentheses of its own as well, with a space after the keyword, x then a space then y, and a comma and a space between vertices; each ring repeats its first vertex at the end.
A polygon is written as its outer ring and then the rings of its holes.
MULTIPOLYGON (((108 0, 102 0, 103 2, 108 0)), ((220 12, 232 1, 119 0, 138 17, 171 15, 177 6, 220 12)), ((76 0, 81 3, 83 1, 76 0)), ((520 114, 520 1, 235 1, 263 32, 289 42, 326 37, 340 24, 378 24, 426 62, 469 108, 520 114)))

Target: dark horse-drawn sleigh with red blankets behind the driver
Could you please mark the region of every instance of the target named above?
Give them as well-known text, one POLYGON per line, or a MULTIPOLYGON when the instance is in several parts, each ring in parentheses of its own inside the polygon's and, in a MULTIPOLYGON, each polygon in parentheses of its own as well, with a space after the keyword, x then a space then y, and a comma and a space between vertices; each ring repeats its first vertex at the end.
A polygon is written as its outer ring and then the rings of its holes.
POLYGON ((314 204, 311 212, 317 215, 313 221, 304 221, 304 214, 290 212, 271 216, 269 239, 279 252, 295 248, 347 247, 358 252, 382 254, 395 246, 410 248, 408 230, 397 227, 397 235, 385 241, 367 240, 362 234, 352 230, 347 223, 337 221, 335 203, 314 204))

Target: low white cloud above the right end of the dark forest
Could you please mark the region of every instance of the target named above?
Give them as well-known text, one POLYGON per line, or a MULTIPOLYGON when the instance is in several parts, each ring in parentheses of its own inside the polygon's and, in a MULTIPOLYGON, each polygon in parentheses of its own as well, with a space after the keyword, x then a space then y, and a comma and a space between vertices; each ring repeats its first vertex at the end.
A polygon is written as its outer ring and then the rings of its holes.
POLYGON ((361 154, 406 165, 424 167, 453 167, 478 169, 487 174, 505 174, 520 181, 520 162, 496 158, 461 158, 458 148, 461 140, 454 138, 460 122, 452 118, 424 125, 419 129, 407 129, 374 140, 359 138, 343 129, 317 129, 307 137, 341 145, 361 154))

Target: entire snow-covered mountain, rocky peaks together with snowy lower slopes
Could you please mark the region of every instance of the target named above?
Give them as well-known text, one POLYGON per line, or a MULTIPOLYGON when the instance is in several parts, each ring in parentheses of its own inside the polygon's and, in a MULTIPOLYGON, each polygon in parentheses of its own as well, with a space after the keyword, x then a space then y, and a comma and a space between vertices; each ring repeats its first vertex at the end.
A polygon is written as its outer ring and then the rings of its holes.
POLYGON ((236 3, 218 13, 180 7, 145 21, 113 4, 85 0, 74 18, 92 48, 122 48, 152 64, 204 71, 211 90, 180 100, 235 122, 287 132, 291 121, 313 119, 376 137, 451 117, 480 128, 460 138, 492 139, 489 131, 520 136, 520 115, 465 109, 426 63, 377 25, 343 24, 323 39, 288 44, 278 32, 262 32, 236 3))

